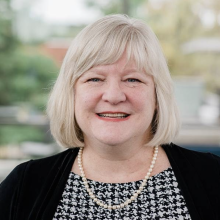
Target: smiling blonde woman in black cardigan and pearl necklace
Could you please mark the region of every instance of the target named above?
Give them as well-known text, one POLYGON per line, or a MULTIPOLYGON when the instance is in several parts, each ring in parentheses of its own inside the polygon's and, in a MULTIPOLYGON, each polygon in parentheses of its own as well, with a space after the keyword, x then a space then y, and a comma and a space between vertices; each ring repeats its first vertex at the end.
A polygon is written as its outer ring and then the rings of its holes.
POLYGON ((220 159, 172 144, 172 80, 151 29, 123 15, 83 29, 48 102, 69 150, 17 166, 0 219, 220 219, 220 159))

